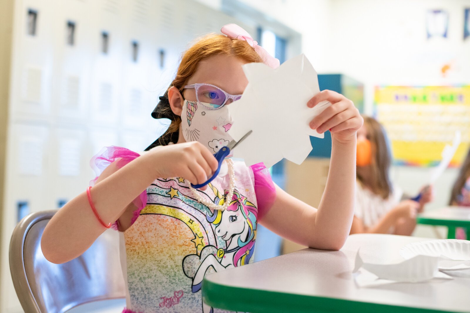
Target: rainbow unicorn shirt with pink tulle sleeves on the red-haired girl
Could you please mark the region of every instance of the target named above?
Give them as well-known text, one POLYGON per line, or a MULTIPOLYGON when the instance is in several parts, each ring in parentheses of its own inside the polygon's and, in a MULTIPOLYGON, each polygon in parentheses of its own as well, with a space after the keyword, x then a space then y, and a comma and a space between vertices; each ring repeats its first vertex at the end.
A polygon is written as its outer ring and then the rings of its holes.
MULTIPOLYGON (((122 158, 124 148, 109 148, 117 149, 102 153, 100 160, 109 164, 122 158)), ((97 163, 96 156, 92 162, 97 163)), ((261 200, 266 208, 275 198, 264 165, 253 168, 234 161, 234 169, 235 190, 225 211, 199 203, 181 177, 156 179, 147 188, 146 204, 134 212, 132 226, 121 236, 121 264, 128 290, 123 313, 214 312, 202 301, 204 275, 253 261, 257 220, 265 213, 258 211, 257 195, 269 198, 261 200)), ((202 195, 221 205, 228 185, 227 166, 223 166, 202 195)))

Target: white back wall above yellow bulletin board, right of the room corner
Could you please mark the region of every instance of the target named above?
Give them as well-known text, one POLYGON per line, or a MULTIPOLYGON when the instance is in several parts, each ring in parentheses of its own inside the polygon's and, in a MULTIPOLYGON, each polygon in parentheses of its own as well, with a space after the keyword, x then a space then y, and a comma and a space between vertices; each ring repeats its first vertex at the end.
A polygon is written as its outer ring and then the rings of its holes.
POLYGON ((463 9, 469 0, 331 0, 329 72, 366 85, 372 112, 377 84, 442 85, 470 82, 470 40, 463 42, 463 9), (428 9, 449 12, 448 38, 426 38, 428 9), (441 68, 451 64, 447 77, 441 68))

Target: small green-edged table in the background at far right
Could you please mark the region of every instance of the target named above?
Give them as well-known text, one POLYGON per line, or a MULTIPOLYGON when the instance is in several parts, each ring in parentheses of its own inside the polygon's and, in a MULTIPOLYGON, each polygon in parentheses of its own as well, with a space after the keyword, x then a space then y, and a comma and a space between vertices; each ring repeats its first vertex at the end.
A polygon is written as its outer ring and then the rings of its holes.
POLYGON ((446 206, 437 210, 419 214, 416 219, 418 224, 446 226, 447 238, 455 238, 455 228, 467 229, 467 240, 470 240, 470 207, 446 206))

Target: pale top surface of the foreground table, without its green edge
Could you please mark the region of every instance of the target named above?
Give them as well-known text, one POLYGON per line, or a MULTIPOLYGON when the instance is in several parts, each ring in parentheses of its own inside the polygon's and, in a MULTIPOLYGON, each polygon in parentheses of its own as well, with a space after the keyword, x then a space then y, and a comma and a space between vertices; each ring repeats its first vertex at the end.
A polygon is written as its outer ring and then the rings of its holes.
MULTIPOLYGON (((381 305, 470 312, 470 278, 454 277, 453 280, 393 283, 368 288, 356 286, 351 272, 359 248, 365 262, 391 263, 403 260, 399 255, 403 245, 423 240, 431 239, 356 234, 347 239, 340 251, 304 249, 207 275, 206 280, 235 288, 255 289, 255 292, 277 291, 381 305)), ((236 297, 236 290, 230 291, 236 297)))

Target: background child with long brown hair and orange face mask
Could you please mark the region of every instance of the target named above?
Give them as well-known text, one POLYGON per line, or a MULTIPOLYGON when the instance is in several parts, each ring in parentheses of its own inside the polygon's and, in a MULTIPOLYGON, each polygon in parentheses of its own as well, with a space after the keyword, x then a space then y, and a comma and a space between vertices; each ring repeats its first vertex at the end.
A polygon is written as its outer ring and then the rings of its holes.
POLYGON ((416 213, 431 201, 432 189, 422 189, 419 202, 403 200, 403 192, 389 178, 391 152, 385 131, 374 118, 363 116, 357 132, 356 206, 351 233, 411 235, 416 213))

